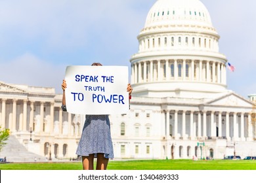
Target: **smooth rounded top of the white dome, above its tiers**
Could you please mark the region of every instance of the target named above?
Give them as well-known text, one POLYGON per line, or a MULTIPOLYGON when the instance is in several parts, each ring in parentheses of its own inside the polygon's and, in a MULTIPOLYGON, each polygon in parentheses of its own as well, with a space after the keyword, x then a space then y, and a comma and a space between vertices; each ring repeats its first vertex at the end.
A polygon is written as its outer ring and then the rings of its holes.
POLYGON ((199 0, 158 0, 148 12, 144 27, 182 24, 212 27, 209 12, 199 0))

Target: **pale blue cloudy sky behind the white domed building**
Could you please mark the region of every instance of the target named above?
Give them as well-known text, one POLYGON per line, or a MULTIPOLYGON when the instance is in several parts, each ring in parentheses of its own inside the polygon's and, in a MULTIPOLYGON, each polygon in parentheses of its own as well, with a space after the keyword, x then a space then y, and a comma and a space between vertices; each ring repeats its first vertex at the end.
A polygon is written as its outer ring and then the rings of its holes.
MULTIPOLYGON (((236 67, 227 71, 228 89, 245 98, 256 93, 256 1, 201 1, 221 36, 220 52, 236 67)), ((137 35, 155 2, 0 0, 0 80, 60 93, 68 65, 130 67, 137 35)))

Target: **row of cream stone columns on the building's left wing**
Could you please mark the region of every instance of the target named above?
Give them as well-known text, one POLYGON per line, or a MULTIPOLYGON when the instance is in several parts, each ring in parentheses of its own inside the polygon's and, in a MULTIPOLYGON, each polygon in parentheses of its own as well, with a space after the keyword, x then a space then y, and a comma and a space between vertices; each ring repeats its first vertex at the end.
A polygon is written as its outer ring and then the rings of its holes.
MULTIPOLYGON (((41 133, 41 132, 49 132, 49 133, 53 133, 53 125, 54 125, 54 103, 50 102, 50 122, 48 130, 46 131, 45 129, 45 112, 44 112, 44 108, 45 108, 45 102, 40 101, 40 125, 39 125, 39 130, 37 131, 37 129, 35 129, 35 114, 34 114, 34 109, 35 109, 35 101, 28 101, 27 99, 1 99, 1 126, 3 128, 8 127, 10 129, 11 132, 14 131, 30 131, 30 128, 32 128, 33 131, 37 132, 37 133, 41 133), (6 122, 7 120, 7 101, 11 101, 12 103, 12 111, 11 111, 11 120, 9 119, 9 122, 6 122), (18 127, 16 126, 17 122, 17 101, 22 101, 23 102, 23 111, 22 111, 22 120, 21 123, 18 125, 18 127), (29 106, 28 106, 29 105, 29 106), (28 107, 30 107, 30 114, 28 116, 28 107), (9 123, 9 124, 8 124, 9 123), (7 126, 8 124, 8 126, 7 126)), ((62 134, 62 120, 63 120, 63 112, 62 112, 62 108, 58 107, 58 129, 59 129, 59 133, 62 134)), ((10 115, 9 115, 10 116, 10 115)), ((68 113, 68 133, 69 135, 70 133, 70 129, 71 129, 71 125, 72 125, 72 114, 68 113)))

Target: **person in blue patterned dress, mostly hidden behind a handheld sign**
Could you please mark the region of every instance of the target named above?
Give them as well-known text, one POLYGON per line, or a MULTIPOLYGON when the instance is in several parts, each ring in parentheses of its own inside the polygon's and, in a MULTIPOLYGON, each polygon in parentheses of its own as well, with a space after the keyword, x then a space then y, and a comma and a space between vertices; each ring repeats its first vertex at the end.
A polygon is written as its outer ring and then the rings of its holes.
MULTIPOLYGON (((93 63, 92 66, 102 65, 100 63, 93 63)), ((62 110, 64 111, 67 111, 65 95, 66 88, 66 80, 63 80, 62 110)), ((129 99, 131 99, 132 91, 133 88, 128 84, 127 92, 129 92, 129 99)), ((106 170, 108 159, 114 158, 108 114, 87 114, 85 116, 85 124, 83 125, 83 131, 77 146, 76 154, 82 157, 84 170, 93 170, 94 158, 97 158, 96 169, 106 170)))

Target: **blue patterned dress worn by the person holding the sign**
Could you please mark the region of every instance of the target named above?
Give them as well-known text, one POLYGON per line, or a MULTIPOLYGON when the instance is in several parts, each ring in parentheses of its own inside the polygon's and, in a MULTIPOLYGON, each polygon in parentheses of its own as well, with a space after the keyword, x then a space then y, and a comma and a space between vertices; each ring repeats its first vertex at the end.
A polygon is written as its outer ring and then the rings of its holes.
MULTIPOLYGON (((62 109, 65 111, 66 106, 62 109)), ((108 115, 86 115, 81 139, 77 146, 78 156, 102 153, 104 158, 114 158, 110 120, 108 115)))

